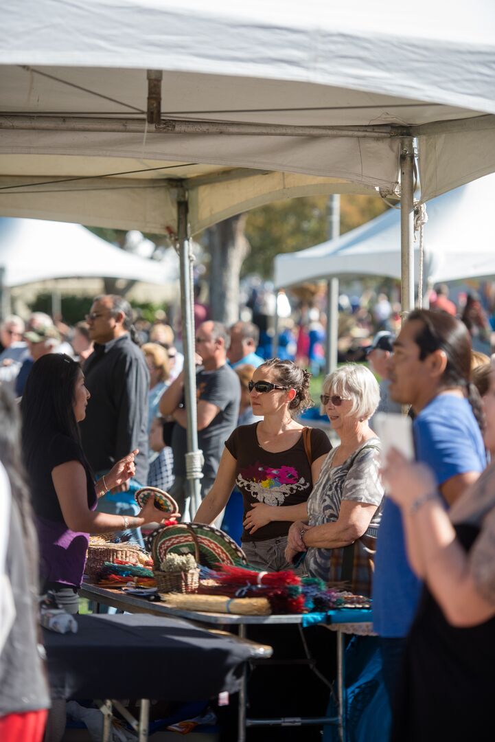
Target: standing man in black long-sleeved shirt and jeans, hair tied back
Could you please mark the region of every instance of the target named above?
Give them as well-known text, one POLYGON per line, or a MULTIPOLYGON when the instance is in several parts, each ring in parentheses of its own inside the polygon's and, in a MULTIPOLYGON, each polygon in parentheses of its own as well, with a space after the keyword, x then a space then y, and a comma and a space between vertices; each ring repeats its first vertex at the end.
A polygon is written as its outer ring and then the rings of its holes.
POLYGON ((133 516, 139 512, 134 493, 147 483, 150 375, 143 353, 133 342, 132 310, 125 299, 97 296, 86 319, 94 350, 83 367, 91 399, 81 423, 82 446, 97 477, 139 450, 135 476, 98 502, 98 510, 104 513, 133 516))

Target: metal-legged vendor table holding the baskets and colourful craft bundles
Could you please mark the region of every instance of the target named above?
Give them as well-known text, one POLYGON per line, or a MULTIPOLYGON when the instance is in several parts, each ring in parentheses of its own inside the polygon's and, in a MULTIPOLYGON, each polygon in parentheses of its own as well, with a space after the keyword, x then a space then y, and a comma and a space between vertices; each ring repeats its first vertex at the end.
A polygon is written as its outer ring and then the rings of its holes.
POLYGON ((337 707, 336 717, 321 718, 285 718, 285 719, 250 719, 246 715, 247 705, 247 666, 244 666, 243 683, 239 689, 239 730, 238 742, 245 742, 248 726, 266 726, 282 724, 282 726, 299 726, 305 724, 336 724, 339 729, 341 742, 347 741, 345 709, 347 706, 346 689, 344 682, 344 634, 372 634, 371 610, 363 608, 338 608, 327 611, 325 614, 272 614, 269 616, 241 616, 239 614, 207 613, 205 611, 187 611, 182 608, 171 608, 165 603, 151 603, 140 597, 122 593, 122 591, 100 588, 84 582, 79 590, 81 597, 93 600, 97 605, 112 605, 123 611, 146 612, 155 616, 181 617, 196 624, 230 627, 236 626, 240 638, 246 637, 247 626, 254 624, 296 624, 305 626, 309 623, 325 623, 332 631, 336 631, 337 643, 337 707))

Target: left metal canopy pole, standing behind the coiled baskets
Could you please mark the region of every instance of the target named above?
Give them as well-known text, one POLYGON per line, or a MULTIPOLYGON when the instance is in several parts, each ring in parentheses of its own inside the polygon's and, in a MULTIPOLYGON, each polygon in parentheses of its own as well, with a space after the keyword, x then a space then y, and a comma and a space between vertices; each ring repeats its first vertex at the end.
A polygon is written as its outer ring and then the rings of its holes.
POLYGON ((201 452, 198 448, 198 421, 196 410, 196 363, 194 358, 193 283, 190 240, 187 234, 187 192, 177 192, 177 238, 179 241, 179 263, 182 310, 182 344, 184 349, 184 387, 187 415, 187 494, 190 497, 191 519, 201 502, 201 467, 197 463, 201 452), (195 462, 196 459, 196 462, 195 462), (189 462, 192 462, 191 464, 189 462))

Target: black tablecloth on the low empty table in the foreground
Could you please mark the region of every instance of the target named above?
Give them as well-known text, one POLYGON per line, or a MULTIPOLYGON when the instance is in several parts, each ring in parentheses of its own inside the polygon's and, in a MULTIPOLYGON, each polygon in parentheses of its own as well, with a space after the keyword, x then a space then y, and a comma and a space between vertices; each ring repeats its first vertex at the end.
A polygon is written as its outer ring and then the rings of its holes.
POLYGON ((239 690, 253 647, 185 620, 76 616, 77 634, 43 630, 53 697, 199 700, 239 690))

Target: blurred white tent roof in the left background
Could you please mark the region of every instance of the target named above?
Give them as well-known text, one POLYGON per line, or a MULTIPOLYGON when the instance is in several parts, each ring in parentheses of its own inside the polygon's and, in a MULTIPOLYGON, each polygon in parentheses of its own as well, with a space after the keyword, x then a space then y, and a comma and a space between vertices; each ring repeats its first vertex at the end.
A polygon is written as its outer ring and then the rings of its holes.
POLYGON ((0 219, 0 269, 7 287, 53 278, 177 280, 170 264, 125 252, 80 224, 35 219, 0 219))

